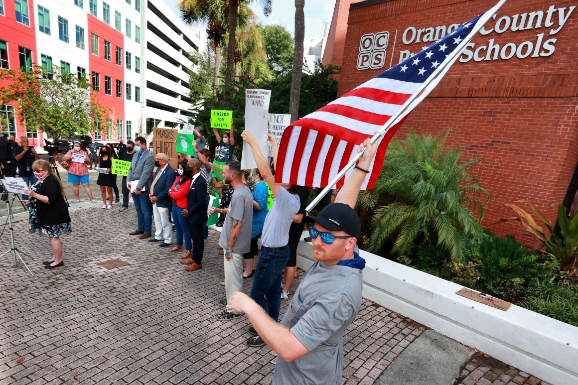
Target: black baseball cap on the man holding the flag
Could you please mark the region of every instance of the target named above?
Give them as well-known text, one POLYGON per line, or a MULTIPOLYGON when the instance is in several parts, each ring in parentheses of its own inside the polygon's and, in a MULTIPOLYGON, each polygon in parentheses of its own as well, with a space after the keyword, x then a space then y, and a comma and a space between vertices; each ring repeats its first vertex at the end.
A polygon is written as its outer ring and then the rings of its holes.
POLYGON ((305 223, 318 223, 330 231, 344 231, 357 238, 361 232, 360 217, 345 203, 331 203, 325 206, 316 217, 305 217, 305 223))

